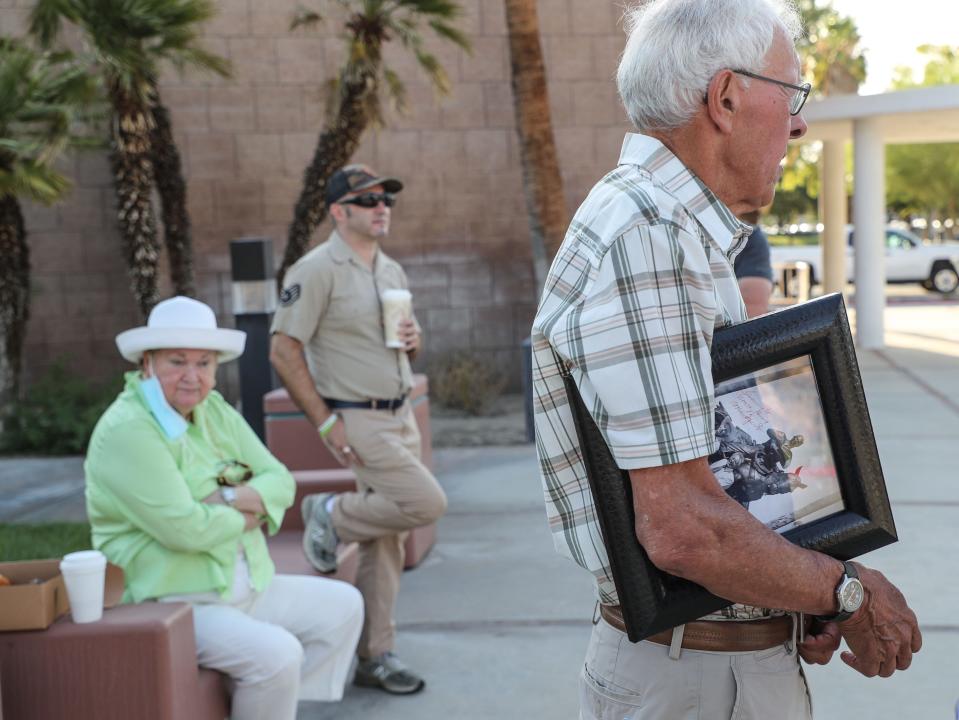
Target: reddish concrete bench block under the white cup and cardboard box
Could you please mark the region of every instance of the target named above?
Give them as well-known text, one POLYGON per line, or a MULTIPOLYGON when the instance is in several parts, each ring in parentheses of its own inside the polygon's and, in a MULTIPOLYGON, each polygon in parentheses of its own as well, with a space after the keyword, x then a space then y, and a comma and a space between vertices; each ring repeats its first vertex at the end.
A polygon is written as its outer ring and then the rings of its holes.
POLYGON ((118 605, 96 623, 0 633, 2 716, 223 720, 227 679, 196 664, 185 603, 118 605))

